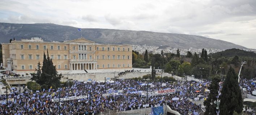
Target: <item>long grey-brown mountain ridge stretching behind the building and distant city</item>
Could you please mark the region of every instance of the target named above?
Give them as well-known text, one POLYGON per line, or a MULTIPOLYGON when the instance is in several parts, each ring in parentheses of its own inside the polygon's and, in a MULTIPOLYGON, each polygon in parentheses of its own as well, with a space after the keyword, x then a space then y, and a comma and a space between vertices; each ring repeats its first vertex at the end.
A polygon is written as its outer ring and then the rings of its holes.
MULTIPOLYGON (((57 24, 13 24, 0 23, 0 42, 7 43, 10 38, 42 37, 44 41, 64 41, 80 38, 76 27, 57 24)), ((247 49, 234 43, 212 38, 176 33, 159 33, 149 31, 130 31, 118 29, 82 29, 82 36, 96 43, 165 46, 171 48, 213 48, 213 49, 247 49)))

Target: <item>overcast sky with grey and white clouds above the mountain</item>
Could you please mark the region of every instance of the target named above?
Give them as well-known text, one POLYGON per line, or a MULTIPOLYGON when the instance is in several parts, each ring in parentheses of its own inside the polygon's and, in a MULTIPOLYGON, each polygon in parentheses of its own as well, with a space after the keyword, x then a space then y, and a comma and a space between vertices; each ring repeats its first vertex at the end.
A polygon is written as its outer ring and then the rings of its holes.
POLYGON ((0 22, 182 33, 256 49, 256 0, 0 0, 0 22))

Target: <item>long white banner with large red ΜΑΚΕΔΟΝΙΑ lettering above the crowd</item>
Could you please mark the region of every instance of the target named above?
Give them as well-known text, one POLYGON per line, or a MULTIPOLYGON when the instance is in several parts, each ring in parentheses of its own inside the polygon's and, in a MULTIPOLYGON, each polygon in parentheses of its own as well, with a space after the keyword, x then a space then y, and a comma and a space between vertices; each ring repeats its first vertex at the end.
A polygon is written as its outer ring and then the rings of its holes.
MULTIPOLYGON (((149 91, 148 95, 154 96, 154 95, 166 95, 170 93, 175 93, 175 89, 164 89, 164 90, 158 90, 158 91, 149 91)), ((147 91, 143 91, 141 93, 141 96, 146 96, 147 91)))

